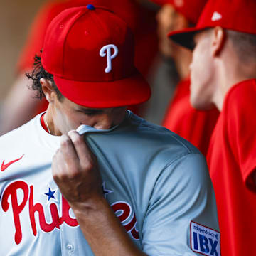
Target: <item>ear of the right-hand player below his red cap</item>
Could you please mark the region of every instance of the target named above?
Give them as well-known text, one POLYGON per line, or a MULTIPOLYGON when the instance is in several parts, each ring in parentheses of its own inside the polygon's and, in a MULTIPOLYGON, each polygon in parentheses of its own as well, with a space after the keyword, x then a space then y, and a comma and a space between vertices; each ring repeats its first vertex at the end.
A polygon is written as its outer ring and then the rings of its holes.
POLYGON ((211 55, 213 57, 218 56, 223 49, 225 43, 225 31, 219 26, 213 28, 211 41, 211 55))

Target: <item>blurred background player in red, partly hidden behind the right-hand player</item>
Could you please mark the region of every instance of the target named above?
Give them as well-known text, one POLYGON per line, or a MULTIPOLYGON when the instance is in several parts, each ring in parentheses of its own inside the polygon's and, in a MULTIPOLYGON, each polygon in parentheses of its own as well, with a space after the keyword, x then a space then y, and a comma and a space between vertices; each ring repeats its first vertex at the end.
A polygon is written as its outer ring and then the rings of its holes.
POLYGON ((207 154, 210 136, 218 119, 218 110, 199 111, 191 107, 190 70, 192 53, 166 37, 169 31, 188 28, 196 24, 206 4, 206 0, 154 0, 161 4, 157 15, 159 23, 159 50, 166 58, 173 58, 181 79, 176 85, 174 97, 171 97, 162 124, 176 132, 196 146, 203 154, 207 154))

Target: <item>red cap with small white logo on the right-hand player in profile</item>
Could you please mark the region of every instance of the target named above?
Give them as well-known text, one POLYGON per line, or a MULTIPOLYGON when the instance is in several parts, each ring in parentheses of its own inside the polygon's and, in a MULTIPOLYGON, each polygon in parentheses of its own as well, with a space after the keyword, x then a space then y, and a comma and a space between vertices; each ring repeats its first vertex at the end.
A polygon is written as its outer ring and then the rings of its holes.
POLYGON ((195 28, 171 31, 176 43, 193 50, 193 36, 206 28, 220 26, 242 33, 256 34, 255 0, 209 0, 195 28))

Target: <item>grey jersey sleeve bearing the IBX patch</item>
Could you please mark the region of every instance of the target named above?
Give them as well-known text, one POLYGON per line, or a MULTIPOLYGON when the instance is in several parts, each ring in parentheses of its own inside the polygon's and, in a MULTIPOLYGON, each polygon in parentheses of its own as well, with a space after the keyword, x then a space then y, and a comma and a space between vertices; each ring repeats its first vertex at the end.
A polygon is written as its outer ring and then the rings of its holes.
MULTIPOLYGON (((161 172, 144 219, 143 251, 147 255, 201 255, 201 247, 196 250, 191 242, 191 222, 218 230, 213 186, 201 154, 186 154, 161 172)), ((215 250, 217 245, 219 240, 215 250)), ((202 248, 210 252, 210 242, 202 248)))

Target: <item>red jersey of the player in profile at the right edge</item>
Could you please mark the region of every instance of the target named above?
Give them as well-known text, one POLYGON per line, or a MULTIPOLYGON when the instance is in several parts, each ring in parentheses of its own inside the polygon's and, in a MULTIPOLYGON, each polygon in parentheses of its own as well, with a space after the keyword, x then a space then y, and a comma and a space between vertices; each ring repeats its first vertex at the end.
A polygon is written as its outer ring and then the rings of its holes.
POLYGON ((223 256, 256 255, 256 80, 233 86, 225 97, 208 151, 223 256))

